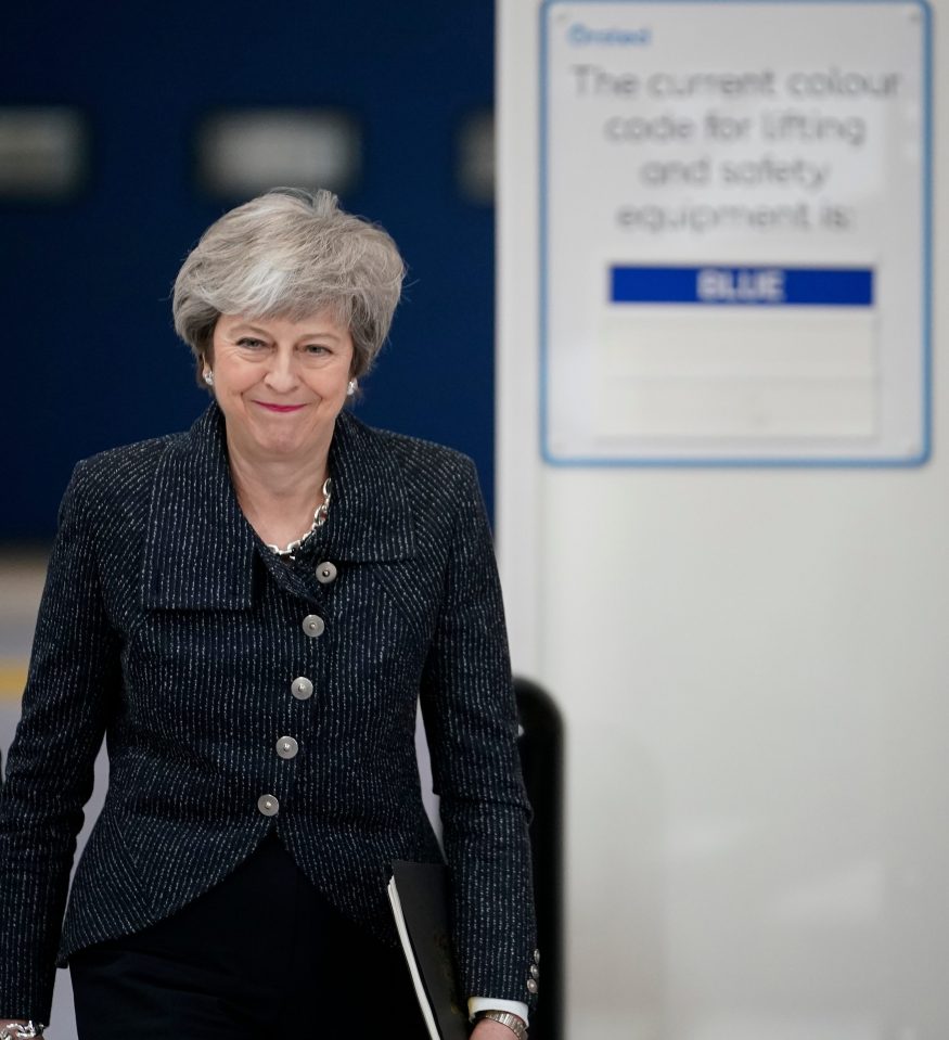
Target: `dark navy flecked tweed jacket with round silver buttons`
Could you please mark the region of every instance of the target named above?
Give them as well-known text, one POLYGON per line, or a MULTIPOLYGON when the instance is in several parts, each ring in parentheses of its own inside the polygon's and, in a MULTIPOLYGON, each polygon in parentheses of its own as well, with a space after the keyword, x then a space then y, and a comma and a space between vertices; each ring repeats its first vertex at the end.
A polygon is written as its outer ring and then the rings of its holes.
POLYGON ((420 697, 462 988, 533 1004, 529 808, 474 467, 344 413, 330 470, 330 518, 288 565, 238 506, 214 405, 187 434, 76 467, 0 796, 0 1016, 48 1022, 56 962, 178 910, 273 827, 339 910, 394 942, 389 862, 440 858, 420 697), (322 561, 337 569, 325 585, 322 561), (108 792, 63 922, 103 734, 108 792))

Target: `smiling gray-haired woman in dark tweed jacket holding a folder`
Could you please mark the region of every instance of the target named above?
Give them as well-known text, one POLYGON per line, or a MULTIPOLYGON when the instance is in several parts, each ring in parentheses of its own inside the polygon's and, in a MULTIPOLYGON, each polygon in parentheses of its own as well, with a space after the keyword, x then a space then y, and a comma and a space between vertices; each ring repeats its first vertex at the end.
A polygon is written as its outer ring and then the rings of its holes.
POLYGON ((525 1035, 529 809, 474 467, 344 410, 402 273, 381 229, 287 190, 179 272, 214 401, 64 497, 0 801, 0 1024, 48 1022, 68 961, 82 1040, 424 1036, 385 894, 393 860, 440 859, 420 701, 473 1036, 525 1035))

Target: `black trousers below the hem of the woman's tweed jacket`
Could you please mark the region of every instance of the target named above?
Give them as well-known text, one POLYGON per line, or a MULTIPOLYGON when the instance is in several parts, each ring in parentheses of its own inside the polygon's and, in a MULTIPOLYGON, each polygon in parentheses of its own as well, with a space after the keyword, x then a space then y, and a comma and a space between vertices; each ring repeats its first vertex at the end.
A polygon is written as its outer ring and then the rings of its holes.
POLYGON ((79 1040, 426 1040, 409 971, 271 835, 220 885, 69 960, 79 1040))

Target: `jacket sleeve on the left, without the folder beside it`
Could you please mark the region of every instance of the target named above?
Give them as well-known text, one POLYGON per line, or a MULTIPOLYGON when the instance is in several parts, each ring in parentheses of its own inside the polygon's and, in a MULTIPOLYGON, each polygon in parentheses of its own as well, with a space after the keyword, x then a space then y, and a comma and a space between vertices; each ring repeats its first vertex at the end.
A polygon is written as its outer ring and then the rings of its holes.
POLYGON ((0 1018, 49 1023, 76 835, 119 682, 94 505, 80 463, 60 508, 23 715, 0 792, 0 1018))

